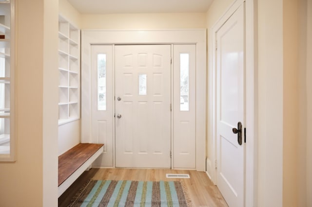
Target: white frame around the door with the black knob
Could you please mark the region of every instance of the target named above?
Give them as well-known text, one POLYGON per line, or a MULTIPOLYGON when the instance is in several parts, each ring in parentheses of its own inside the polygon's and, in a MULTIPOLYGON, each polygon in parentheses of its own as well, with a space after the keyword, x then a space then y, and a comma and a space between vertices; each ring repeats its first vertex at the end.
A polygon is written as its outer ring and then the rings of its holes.
MULTIPOLYGON (((207 143, 211 146, 212 154, 211 159, 207 160, 207 173, 210 176, 211 180, 216 183, 216 170, 215 170, 215 160, 216 160, 216 86, 215 86, 215 77, 216 77, 216 40, 215 34, 219 28, 224 24, 224 22, 231 17, 231 15, 236 11, 236 9, 245 1, 246 6, 246 45, 245 45, 245 64, 246 64, 246 160, 245 160, 245 206, 257 206, 257 66, 256 66, 256 50, 257 42, 255 35, 256 29, 256 17, 255 17, 255 0, 235 0, 229 9, 223 14, 219 20, 212 27, 210 32, 210 64, 208 66, 208 75, 209 75, 209 100, 208 108, 209 111, 209 125, 208 129, 208 140, 211 140, 210 143, 207 143)), ((209 148, 208 148, 209 149, 209 148)))

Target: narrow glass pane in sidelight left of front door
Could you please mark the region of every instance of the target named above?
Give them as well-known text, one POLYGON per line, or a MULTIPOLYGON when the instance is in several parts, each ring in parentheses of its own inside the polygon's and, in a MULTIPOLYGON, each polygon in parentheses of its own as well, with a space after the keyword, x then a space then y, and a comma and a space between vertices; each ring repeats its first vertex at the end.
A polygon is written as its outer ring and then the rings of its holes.
POLYGON ((106 110, 106 54, 98 54, 98 110, 106 110))

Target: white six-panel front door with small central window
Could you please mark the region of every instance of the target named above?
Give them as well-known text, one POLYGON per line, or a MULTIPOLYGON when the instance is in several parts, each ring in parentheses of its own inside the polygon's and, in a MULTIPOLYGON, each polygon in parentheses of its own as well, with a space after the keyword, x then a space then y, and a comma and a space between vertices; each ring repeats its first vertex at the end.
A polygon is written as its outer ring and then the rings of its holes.
POLYGON ((115 49, 116 167, 171 168, 171 46, 115 49))

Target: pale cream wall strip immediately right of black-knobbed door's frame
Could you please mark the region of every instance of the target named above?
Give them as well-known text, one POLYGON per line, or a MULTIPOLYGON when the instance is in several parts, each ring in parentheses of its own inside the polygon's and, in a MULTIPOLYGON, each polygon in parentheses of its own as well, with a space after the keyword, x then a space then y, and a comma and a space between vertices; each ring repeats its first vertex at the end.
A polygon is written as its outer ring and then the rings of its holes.
POLYGON ((258 1, 258 206, 283 205, 283 0, 258 1))

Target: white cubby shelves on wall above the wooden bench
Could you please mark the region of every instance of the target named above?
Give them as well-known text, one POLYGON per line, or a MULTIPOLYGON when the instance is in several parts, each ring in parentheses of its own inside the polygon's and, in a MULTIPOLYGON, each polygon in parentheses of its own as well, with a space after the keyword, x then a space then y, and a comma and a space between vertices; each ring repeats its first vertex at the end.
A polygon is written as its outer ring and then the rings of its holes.
POLYGON ((80 118, 80 30, 59 16, 59 125, 80 118))

